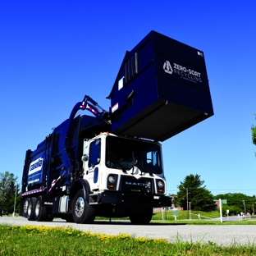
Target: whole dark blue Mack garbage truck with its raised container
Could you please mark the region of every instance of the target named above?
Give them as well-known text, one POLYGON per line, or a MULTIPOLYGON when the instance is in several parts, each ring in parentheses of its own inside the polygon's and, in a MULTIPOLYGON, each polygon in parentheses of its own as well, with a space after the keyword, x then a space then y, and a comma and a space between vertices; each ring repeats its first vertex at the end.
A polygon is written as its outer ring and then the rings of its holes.
POLYGON ((106 111, 85 95, 26 151, 21 216, 147 225, 153 208, 171 206, 160 142, 213 116, 203 52, 151 31, 126 52, 107 98, 106 111))

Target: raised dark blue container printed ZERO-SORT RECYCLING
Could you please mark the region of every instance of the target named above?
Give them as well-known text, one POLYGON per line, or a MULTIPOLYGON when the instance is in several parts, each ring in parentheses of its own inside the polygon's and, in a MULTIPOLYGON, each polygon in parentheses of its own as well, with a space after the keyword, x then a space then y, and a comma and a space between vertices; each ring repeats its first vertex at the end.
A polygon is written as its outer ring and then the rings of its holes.
POLYGON ((155 31, 126 52, 107 98, 112 132, 158 141, 213 116, 203 52, 155 31))

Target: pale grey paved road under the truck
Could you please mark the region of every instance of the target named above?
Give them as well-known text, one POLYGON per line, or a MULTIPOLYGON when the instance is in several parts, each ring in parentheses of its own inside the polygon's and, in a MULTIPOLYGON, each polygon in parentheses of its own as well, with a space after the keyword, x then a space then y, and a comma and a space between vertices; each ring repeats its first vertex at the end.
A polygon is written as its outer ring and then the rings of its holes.
POLYGON ((208 241, 217 245, 247 245, 256 242, 256 226, 254 225, 182 225, 182 224, 149 224, 135 226, 130 222, 94 222, 94 224, 75 224, 60 219, 53 222, 29 222, 23 217, 0 217, 0 224, 36 225, 36 226, 71 226, 80 231, 118 235, 131 234, 135 237, 166 238, 171 242, 177 240, 208 241))

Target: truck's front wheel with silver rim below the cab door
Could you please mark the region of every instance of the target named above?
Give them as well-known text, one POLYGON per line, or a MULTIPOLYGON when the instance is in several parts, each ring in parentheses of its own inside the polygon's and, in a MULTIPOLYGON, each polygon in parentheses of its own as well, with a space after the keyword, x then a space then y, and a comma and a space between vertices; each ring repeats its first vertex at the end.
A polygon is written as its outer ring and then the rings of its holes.
POLYGON ((72 200, 72 216, 75 223, 94 222, 95 209, 86 201, 83 190, 78 190, 72 200))

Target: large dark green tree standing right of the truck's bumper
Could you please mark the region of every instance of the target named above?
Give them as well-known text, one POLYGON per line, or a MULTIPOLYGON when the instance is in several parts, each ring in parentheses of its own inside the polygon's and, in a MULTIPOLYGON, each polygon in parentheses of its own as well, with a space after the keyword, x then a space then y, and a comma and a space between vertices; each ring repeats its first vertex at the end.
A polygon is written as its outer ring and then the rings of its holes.
POLYGON ((173 199, 173 203, 179 205, 183 209, 187 209, 190 202, 190 208, 194 210, 210 210, 215 207, 213 194, 203 185, 204 181, 200 180, 198 174, 185 176, 181 185, 178 185, 177 196, 173 199))

